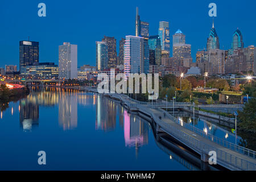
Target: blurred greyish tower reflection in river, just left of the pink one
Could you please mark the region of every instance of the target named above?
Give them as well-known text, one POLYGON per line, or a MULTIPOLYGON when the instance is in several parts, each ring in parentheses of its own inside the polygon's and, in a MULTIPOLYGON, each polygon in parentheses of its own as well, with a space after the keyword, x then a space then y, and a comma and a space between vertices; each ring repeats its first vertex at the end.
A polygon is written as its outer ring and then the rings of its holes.
POLYGON ((112 131, 116 125, 117 104, 106 97, 97 96, 96 130, 112 131))

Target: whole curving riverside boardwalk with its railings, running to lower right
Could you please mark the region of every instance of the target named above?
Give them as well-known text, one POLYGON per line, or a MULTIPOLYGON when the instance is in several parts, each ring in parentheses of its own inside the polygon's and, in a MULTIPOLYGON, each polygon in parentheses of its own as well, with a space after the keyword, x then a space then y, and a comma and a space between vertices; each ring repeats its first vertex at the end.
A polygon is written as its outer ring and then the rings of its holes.
MULTIPOLYGON (((95 90, 91 90, 95 92, 95 90)), ((121 101, 131 112, 143 114, 151 119, 156 132, 166 133, 201 156, 203 162, 208 162, 209 152, 217 154, 217 164, 230 170, 256 170, 255 151, 237 146, 224 139, 217 138, 173 117, 167 111, 160 109, 158 104, 139 102, 123 94, 104 94, 121 101)), ((185 104, 187 105, 187 104, 185 104)))

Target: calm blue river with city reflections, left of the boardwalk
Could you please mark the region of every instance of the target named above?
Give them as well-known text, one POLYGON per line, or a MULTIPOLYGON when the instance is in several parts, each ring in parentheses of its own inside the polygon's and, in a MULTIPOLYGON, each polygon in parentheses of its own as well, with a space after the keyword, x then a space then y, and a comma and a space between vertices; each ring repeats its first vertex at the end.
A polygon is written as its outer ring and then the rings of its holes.
POLYGON ((156 142, 151 126, 117 101, 45 89, 1 113, 1 170, 188 170, 199 168, 156 142), (47 165, 38 164, 46 151, 47 165))

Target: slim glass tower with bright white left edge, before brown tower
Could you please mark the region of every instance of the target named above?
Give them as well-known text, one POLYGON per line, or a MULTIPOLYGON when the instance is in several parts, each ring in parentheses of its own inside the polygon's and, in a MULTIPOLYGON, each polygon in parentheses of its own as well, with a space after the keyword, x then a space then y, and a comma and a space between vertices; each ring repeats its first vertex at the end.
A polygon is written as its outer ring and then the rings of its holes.
POLYGON ((108 68, 108 46, 106 42, 96 42, 96 69, 103 71, 108 68))

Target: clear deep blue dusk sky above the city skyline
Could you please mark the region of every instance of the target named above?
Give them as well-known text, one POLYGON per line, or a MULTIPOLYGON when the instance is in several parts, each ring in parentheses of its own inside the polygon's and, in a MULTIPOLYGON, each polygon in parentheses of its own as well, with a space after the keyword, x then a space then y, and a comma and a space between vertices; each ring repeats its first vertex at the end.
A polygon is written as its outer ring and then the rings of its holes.
MULTIPOLYGON (((58 64, 58 46, 63 42, 78 45, 78 65, 95 65, 97 40, 115 36, 117 42, 135 34, 135 7, 141 20, 150 23, 150 35, 158 34, 159 21, 170 22, 171 35, 180 28, 186 42, 192 44, 195 61, 197 49, 206 47, 212 27, 208 5, 217 4, 214 27, 220 47, 229 49, 232 34, 240 28, 245 46, 256 44, 254 0, 221 1, 7 1, 0 3, 0 67, 19 65, 19 40, 38 41, 40 62, 58 64), (46 3, 46 17, 38 16, 38 4, 46 3)), ((117 45, 118 46, 118 45, 117 45)))

